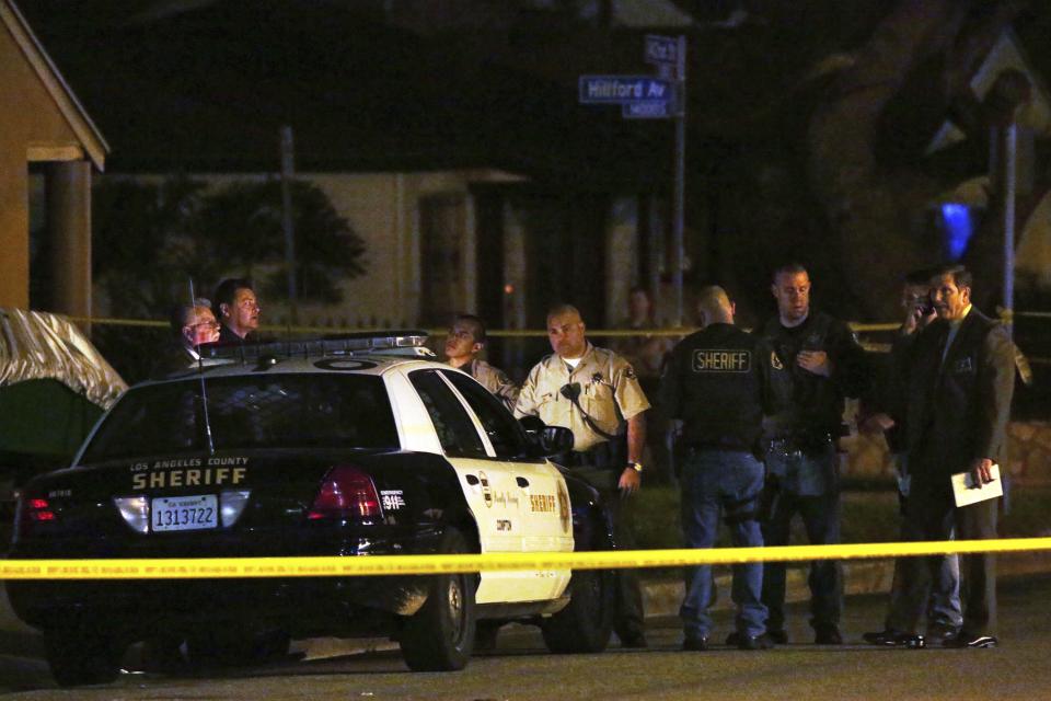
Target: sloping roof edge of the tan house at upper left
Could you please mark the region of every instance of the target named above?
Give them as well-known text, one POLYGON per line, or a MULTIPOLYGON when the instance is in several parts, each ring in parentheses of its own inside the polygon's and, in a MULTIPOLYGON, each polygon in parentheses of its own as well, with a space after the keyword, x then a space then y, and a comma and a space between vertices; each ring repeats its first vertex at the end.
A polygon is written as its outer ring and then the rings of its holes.
POLYGON ((0 0, 0 23, 7 28, 14 43, 22 50, 26 61, 39 78, 51 100, 55 101, 62 117, 80 140, 88 157, 100 171, 106 161, 109 147, 102 133, 95 127, 88 112, 77 100, 62 74, 51 62, 50 57, 37 41, 25 18, 12 0, 0 0))

